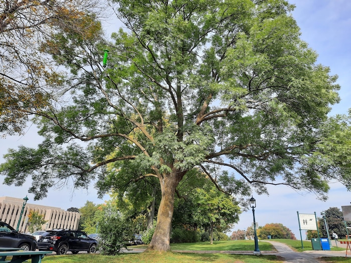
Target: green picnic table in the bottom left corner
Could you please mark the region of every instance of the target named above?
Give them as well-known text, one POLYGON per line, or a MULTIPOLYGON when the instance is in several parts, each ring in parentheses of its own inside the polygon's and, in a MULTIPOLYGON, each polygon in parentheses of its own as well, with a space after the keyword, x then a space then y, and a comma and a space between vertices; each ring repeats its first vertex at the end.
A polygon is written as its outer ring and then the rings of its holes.
POLYGON ((23 251, 18 249, 19 248, 15 249, 14 247, 0 249, 0 263, 22 263, 30 258, 32 259, 32 263, 41 263, 44 255, 52 253, 52 251, 23 251), (11 255, 11 260, 5 260, 7 256, 11 255))

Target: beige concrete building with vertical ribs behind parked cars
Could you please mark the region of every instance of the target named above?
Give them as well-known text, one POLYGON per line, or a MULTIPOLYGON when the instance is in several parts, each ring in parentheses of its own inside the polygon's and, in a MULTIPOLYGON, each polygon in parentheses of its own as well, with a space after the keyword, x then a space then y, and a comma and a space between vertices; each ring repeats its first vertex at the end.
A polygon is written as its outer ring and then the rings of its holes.
MULTIPOLYGON (((0 221, 10 224, 16 229, 23 203, 24 200, 21 198, 0 197, 0 221)), ((53 228, 78 229, 80 213, 65 211, 59 207, 27 203, 20 221, 19 231, 29 231, 28 214, 31 210, 45 215, 46 223, 38 230, 53 228)))

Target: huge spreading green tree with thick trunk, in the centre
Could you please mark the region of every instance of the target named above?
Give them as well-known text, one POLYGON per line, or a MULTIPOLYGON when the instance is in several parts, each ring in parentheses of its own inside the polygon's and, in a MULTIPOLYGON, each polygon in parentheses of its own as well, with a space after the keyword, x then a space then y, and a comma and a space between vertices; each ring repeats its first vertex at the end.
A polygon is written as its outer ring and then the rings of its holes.
POLYGON ((101 192, 156 179, 148 249, 166 251, 174 195, 189 172, 238 201, 267 184, 325 198, 331 176, 348 181, 342 163, 323 161, 327 147, 318 150, 339 99, 336 77, 315 64, 287 1, 114 2, 125 29, 114 43, 97 30, 67 30, 45 46, 70 73, 45 110, 26 109, 45 140, 9 151, 5 183, 31 175, 38 199, 70 178, 76 187, 98 179, 101 192))

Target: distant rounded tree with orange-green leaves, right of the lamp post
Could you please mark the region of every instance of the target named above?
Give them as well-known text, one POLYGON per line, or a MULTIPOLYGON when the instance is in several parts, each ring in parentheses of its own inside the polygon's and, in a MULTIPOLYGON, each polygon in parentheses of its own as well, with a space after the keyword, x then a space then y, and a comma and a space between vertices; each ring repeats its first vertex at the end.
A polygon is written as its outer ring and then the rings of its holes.
POLYGON ((295 235, 291 232, 289 228, 281 223, 270 223, 257 229, 257 236, 259 239, 268 239, 268 235, 271 238, 286 238, 286 239, 296 239, 295 235))

